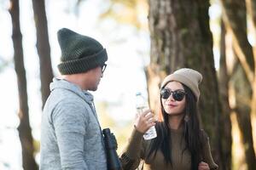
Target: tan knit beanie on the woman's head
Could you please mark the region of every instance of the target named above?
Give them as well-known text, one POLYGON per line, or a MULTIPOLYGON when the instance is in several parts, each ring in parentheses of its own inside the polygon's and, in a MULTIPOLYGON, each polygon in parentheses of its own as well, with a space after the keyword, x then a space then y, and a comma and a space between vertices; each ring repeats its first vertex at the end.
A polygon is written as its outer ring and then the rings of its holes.
POLYGON ((189 87, 195 94, 196 100, 198 101, 200 96, 200 90, 198 85, 202 81, 201 73, 189 68, 182 68, 174 71, 171 75, 167 76, 161 84, 161 88, 164 88, 168 82, 177 81, 182 82, 184 85, 189 87))

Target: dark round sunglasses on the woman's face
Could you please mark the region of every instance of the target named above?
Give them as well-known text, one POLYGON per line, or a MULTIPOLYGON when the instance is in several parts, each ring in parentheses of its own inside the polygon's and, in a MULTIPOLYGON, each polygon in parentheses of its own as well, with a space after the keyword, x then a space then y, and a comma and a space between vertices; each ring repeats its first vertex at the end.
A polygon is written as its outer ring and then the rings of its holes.
POLYGON ((160 96, 162 99, 168 99, 170 95, 172 95, 172 98, 175 99, 176 101, 181 101, 185 97, 186 93, 181 89, 178 89, 175 91, 172 91, 168 88, 161 89, 160 96))

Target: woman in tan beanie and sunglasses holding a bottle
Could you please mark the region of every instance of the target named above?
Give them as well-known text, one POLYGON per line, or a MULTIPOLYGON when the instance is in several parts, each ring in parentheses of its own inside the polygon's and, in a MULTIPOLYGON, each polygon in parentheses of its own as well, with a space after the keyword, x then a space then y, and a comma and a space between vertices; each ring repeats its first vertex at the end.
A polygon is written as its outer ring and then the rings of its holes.
POLYGON ((136 169, 141 159, 146 170, 218 169, 197 116, 201 80, 201 73, 188 68, 164 79, 160 88, 163 121, 155 122, 150 111, 137 116, 130 142, 120 157, 124 169, 136 169), (157 138, 143 139, 143 133, 154 125, 157 138))

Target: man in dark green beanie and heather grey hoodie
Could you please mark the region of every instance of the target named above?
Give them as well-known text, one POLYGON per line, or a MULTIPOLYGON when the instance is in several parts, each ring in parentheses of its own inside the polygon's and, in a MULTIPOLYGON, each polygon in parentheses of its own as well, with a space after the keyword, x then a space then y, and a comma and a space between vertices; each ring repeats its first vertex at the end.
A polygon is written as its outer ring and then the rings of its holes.
POLYGON ((41 170, 107 169, 102 131, 93 96, 108 60, 106 49, 91 37, 62 28, 61 79, 50 83, 41 129, 41 170))

